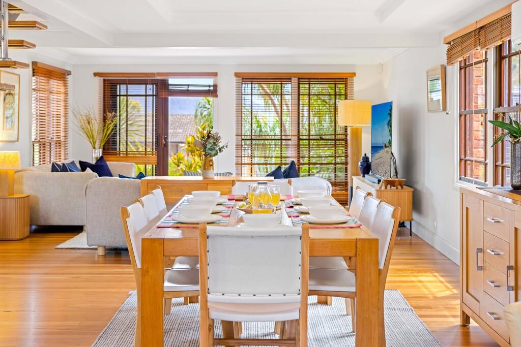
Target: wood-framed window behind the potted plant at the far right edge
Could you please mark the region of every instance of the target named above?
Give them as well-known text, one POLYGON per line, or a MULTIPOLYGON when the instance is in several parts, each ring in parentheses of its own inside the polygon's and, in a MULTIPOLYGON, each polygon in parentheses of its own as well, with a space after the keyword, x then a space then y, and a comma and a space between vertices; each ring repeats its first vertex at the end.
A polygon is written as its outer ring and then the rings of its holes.
MULTIPOLYGON (((497 68, 498 81, 494 119, 506 121, 508 117, 519 120, 519 102, 521 85, 519 83, 519 50, 512 47, 510 40, 497 48, 499 65, 497 68)), ((501 133, 500 128, 494 126, 494 139, 501 133)), ((494 147, 494 185, 510 185, 510 139, 506 138, 494 147)))

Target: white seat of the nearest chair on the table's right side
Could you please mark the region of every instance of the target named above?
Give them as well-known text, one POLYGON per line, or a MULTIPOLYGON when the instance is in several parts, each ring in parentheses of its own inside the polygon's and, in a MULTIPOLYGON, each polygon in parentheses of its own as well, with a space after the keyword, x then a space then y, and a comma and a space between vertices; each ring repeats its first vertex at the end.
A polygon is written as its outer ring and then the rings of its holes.
POLYGON ((309 290, 354 292, 355 275, 351 271, 310 268, 309 290))

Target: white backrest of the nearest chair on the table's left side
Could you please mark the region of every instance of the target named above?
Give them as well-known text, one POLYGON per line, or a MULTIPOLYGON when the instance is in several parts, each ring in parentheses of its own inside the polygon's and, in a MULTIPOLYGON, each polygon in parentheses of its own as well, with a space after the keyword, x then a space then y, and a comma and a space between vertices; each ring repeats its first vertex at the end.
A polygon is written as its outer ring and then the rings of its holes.
POLYGON ((134 253, 135 266, 141 268, 141 239, 150 230, 151 224, 145 215, 141 202, 134 202, 127 208, 127 211, 129 217, 123 220, 123 223, 127 224, 131 242, 127 247, 129 247, 129 250, 132 249, 134 253))

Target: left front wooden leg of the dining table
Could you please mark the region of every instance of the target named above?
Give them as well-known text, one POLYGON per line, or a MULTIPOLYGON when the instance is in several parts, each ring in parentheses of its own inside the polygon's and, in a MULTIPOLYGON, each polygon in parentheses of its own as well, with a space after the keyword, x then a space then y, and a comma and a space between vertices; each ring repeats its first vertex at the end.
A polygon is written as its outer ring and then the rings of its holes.
POLYGON ((163 239, 143 238, 141 345, 163 346, 163 239))

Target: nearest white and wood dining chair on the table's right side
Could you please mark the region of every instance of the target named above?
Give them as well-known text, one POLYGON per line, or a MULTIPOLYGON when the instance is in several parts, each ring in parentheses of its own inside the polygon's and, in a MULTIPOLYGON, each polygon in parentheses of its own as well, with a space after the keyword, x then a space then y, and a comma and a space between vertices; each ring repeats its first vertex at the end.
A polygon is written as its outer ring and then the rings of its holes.
MULTIPOLYGON (((373 228, 370 232, 378 238, 378 291, 383 305, 383 291, 386 286, 389 263, 391 261, 392 249, 396 230, 400 220, 400 208, 393 207, 387 202, 380 202, 376 209, 373 228)), ((359 273, 358 276, 364 276, 359 273)), ((309 295, 331 295, 334 297, 355 299, 352 300, 351 320, 353 331, 356 327, 356 276, 350 270, 338 270, 329 268, 309 269, 309 295)), ((379 322, 383 325, 383 322, 379 322)))

